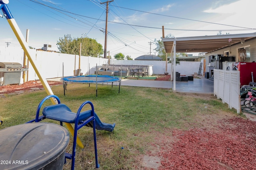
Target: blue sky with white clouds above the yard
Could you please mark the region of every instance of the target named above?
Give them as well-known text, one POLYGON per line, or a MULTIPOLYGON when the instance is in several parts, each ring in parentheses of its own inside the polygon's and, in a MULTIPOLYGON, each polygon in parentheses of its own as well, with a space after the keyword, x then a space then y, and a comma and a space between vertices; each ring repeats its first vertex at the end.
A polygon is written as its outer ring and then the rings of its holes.
MULTIPOLYGON (((9 0, 7 5, 29 45, 51 44, 64 35, 87 35, 104 48, 106 4, 100 0, 9 0)), ((150 42, 175 37, 256 32, 254 0, 114 0, 109 3, 107 51, 136 58, 150 53, 150 42), (253 28, 253 29, 247 29, 253 28)), ((0 11, 2 14, 2 11, 0 11)), ((0 47, 20 47, 5 18, 0 18, 0 47)), ((151 54, 156 54, 152 43, 151 54)), ((203 51, 202 51, 203 52, 203 51)))

